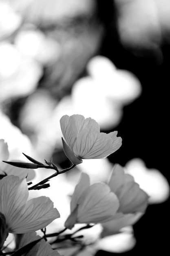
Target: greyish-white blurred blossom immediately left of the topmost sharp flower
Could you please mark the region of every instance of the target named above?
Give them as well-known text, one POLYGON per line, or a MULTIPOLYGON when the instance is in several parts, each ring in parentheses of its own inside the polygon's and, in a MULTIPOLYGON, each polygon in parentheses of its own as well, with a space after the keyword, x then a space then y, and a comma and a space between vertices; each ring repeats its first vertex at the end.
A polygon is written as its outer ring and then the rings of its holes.
POLYGON ((52 157, 53 150, 58 145, 56 137, 62 148, 60 119, 58 124, 54 122, 53 111, 56 104, 55 99, 46 90, 38 89, 26 99, 20 111, 20 127, 29 135, 37 155, 42 159, 52 157))

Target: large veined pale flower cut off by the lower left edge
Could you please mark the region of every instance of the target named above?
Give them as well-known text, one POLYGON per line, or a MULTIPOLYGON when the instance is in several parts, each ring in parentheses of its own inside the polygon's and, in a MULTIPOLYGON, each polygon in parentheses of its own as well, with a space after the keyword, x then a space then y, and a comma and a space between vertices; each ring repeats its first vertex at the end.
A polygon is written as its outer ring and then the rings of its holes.
POLYGON ((40 196, 27 201, 28 196, 26 179, 9 175, 0 180, 0 212, 9 233, 37 231, 60 217, 49 198, 40 196))

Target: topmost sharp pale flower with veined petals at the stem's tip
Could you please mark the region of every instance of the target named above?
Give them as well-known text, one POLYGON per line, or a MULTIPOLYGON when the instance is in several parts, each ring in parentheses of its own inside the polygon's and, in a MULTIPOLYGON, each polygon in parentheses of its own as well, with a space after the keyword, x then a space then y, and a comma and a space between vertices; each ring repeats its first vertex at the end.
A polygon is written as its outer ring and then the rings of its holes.
POLYGON ((64 153, 73 164, 80 164, 82 159, 105 158, 121 146, 117 131, 100 132, 99 125, 90 117, 64 115, 60 125, 67 142, 63 140, 64 153))

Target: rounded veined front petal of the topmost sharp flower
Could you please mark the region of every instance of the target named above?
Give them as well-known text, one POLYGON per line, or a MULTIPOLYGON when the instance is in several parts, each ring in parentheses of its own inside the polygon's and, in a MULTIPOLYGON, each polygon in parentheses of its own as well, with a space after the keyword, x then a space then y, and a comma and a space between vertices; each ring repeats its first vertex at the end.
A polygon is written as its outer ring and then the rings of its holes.
POLYGON ((86 128, 77 137, 73 152, 82 159, 93 159, 107 157, 111 154, 111 149, 112 141, 106 133, 86 128))

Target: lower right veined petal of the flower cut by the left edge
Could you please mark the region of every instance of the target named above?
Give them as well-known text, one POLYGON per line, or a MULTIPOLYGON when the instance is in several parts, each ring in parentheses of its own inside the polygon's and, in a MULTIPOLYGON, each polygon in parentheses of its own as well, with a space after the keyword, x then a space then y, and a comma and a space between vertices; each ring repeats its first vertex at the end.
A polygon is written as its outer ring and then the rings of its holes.
POLYGON ((11 233, 23 234, 37 231, 49 225, 53 220, 60 217, 60 213, 53 208, 53 202, 40 196, 29 200, 25 207, 20 209, 18 216, 11 222, 11 233))

